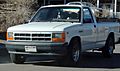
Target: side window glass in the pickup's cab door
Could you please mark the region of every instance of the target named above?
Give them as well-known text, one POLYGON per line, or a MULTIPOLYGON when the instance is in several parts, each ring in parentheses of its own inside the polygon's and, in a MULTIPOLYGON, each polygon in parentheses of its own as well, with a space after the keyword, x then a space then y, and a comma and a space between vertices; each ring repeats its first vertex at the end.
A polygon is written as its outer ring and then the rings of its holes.
POLYGON ((93 23, 93 17, 89 8, 83 8, 83 23, 93 23))

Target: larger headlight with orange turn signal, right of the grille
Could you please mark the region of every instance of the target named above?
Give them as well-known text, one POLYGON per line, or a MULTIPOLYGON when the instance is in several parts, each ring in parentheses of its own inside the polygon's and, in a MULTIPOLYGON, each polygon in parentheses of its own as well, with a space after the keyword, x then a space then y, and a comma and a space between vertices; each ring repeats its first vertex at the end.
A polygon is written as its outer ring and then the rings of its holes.
POLYGON ((53 33, 52 34, 53 42, 64 42, 65 41, 65 33, 53 33))

